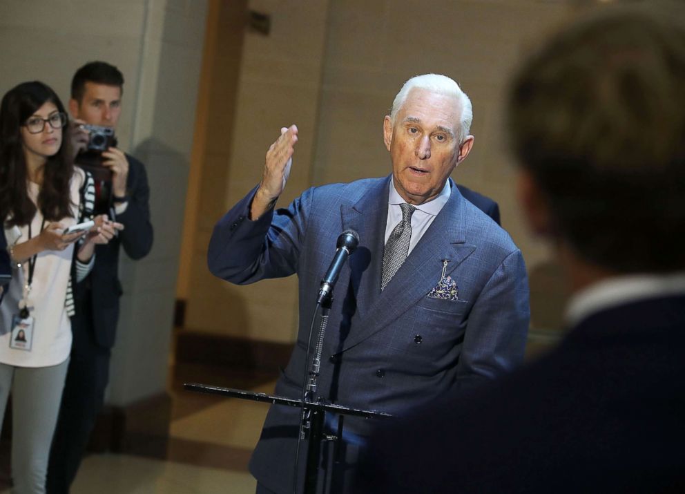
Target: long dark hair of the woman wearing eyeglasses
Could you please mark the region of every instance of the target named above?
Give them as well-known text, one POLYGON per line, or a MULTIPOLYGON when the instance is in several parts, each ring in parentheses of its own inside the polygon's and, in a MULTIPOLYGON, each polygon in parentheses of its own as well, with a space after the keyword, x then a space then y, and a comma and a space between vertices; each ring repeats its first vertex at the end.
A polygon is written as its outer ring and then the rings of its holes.
MULTIPOLYGON (((28 172, 21 140, 21 126, 41 106, 51 102, 66 113, 59 97, 42 82, 24 82, 10 89, 0 104, 0 218, 6 225, 28 225, 36 205, 28 197, 28 172)), ((72 215, 69 182, 74 165, 68 155, 68 126, 62 128, 59 151, 48 157, 38 208, 48 221, 72 215)))

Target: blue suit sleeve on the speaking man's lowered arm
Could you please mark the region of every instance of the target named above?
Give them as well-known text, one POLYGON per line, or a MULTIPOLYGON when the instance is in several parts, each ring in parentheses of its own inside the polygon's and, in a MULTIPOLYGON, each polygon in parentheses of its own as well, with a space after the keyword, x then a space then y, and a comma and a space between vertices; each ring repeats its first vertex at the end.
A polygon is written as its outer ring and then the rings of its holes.
POLYGON ((457 386, 510 372, 523 361, 530 323, 528 277, 518 249, 495 269, 471 310, 457 365, 457 386))

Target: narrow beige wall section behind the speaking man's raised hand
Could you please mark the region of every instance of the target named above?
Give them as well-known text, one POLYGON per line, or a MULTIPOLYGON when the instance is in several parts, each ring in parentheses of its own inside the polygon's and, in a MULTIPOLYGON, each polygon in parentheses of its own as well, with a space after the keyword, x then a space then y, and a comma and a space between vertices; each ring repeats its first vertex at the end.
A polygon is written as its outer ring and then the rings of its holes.
POLYGON ((291 341, 297 325, 295 278, 245 287, 229 285, 209 274, 206 248, 211 229, 224 210, 259 182, 264 154, 281 126, 296 122, 302 135, 282 201, 291 200, 311 182, 327 1, 273 0, 251 2, 249 6, 271 13, 271 34, 265 37, 245 30, 233 131, 218 132, 216 140, 207 142, 203 182, 212 196, 217 189, 223 189, 223 196, 220 202, 208 204, 197 223, 193 256, 197 263, 191 274, 186 326, 291 341))

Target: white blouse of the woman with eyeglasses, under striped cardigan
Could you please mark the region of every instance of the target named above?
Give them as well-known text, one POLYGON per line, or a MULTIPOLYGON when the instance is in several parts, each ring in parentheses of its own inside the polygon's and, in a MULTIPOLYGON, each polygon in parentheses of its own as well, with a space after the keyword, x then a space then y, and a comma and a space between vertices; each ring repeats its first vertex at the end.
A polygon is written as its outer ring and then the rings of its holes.
MULTIPOLYGON (((65 228, 75 225, 79 217, 79 188, 84 172, 77 169, 70 182, 73 218, 62 218, 65 228)), ((28 194, 37 203, 39 186, 29 182, 28 194)), ((43 215, 37 211, 31 222, 32 236, 39 235, 43 215)), ((47 225, 47 222, 46 222, 47 225)), ((8 245, 29 239, 28 225, 5 229, 8 245)), ((19 367, 47 367, 64 362, 71 350, 71 322, 64 301, 71 276, 74 245, 63 251, 48 250, 36 256, 33 282, 28 294, 28 308, 34 320, 31 350, 10 348, 12 317, 19 314, 23 285, 28 278, 28 261, 12 267, 12 281, 0 304, 0 363, 19 367)))

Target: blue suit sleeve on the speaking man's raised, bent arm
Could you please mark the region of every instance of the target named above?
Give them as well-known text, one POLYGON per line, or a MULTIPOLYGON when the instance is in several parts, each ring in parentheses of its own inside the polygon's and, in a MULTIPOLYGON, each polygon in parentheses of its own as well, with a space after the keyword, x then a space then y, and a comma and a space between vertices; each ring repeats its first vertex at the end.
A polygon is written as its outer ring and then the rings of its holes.
POLYGON ((311 190, 289 207, 271 209, 253 221, 249 212, 255 187, 215 225, 207 252, 211 273, 240 285, 296 273, 311 190))

